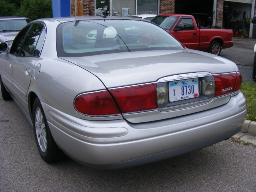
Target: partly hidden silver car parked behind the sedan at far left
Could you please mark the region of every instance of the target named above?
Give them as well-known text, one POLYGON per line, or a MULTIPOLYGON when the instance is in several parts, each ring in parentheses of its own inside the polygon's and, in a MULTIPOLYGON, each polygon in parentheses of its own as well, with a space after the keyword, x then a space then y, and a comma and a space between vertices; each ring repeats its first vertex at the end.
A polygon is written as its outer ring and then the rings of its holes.
POLYGON ((29 22, 25 17, 0 17, 0 43, 10 46, 18 32, 29 22))

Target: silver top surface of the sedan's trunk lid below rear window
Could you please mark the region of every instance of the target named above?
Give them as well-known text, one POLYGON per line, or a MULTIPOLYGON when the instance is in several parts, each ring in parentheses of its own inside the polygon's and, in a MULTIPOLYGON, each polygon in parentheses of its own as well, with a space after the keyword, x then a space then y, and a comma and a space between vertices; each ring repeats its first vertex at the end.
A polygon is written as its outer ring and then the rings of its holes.
POLYGON ((106 88, 156 82, 158 79, 192 72, 212 74, 236 72, 236 65, 224 58, 194 50, 138 51, 86 57, 62 57, 88 70, 106 88))

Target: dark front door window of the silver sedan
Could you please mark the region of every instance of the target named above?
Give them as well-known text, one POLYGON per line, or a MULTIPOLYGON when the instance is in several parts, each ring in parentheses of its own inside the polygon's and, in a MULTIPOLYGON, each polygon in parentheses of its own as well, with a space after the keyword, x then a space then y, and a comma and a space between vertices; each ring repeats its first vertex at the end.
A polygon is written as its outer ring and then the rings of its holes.
POLYGON ((24 38, 29 30, 31 25, 26 26, 24 29, 22 29, 19 34, 16 36, 16 38, 14 39, 13 43, 12 43, 12 47, 10 50, 10 53, 15 54, 15 55, 19 55, 19 51, 20 48, 22 46, 22 42, 24 41, 24 38))

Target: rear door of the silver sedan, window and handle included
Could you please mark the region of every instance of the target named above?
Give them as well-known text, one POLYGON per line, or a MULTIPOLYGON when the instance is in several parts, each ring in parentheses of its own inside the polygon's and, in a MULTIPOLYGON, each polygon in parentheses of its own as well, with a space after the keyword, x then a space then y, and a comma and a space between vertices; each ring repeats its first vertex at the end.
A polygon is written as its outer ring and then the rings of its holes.
POLYGON ((32 70, 38 60, 42 41, 44 40, 45 29, 42 23, 34 23, 13 62, 12 85, 15 90, 14 97, 22 106, 26 106, 26 94, 30 85, 32 70), (42 36, 40 36, 42 34, 42 36))

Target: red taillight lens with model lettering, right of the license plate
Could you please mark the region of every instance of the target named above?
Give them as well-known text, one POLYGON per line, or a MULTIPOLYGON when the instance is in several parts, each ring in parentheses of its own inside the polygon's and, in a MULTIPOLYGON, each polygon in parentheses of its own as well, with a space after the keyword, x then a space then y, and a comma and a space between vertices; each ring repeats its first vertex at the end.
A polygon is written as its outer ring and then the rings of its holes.
POLYGON ((236 84, 236 73, 215 75, 215 97, 232 93, 236 84))

